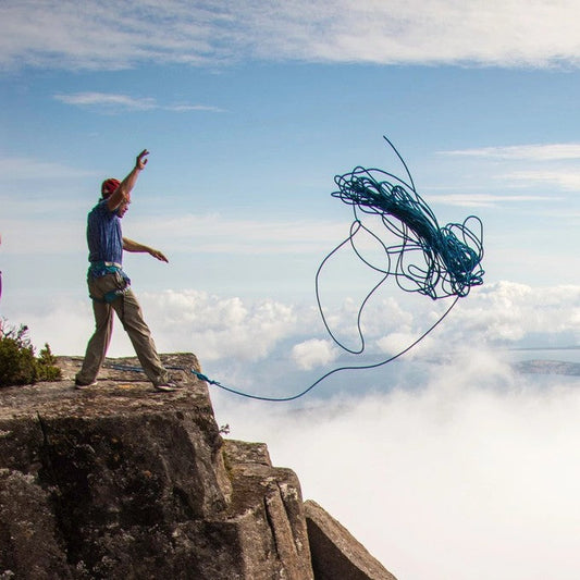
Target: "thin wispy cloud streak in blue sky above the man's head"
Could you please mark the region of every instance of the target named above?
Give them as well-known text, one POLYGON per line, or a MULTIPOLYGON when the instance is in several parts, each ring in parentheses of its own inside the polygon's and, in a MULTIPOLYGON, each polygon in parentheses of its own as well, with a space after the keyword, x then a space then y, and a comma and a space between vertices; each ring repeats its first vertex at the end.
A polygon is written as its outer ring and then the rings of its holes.
POLYGON ((205 104, 159 104, 152 97, 135 98, 129 95, 119 95, 113 92, 75 92, 73 95, 54 95, 54 99, 73 104, 75 107, 90 108, 104 112, 125 112, 125 111, 151 111, 161 109, 174 112, 188 111, 210 111, 223 112, 223 109, 205 104))

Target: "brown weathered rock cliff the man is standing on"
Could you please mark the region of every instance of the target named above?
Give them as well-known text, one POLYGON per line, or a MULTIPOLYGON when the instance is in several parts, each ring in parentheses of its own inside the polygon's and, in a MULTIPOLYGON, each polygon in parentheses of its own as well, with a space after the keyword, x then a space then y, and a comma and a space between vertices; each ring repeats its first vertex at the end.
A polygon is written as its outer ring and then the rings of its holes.
POLYGON ((222 439, 194 374, 156 393, 104 368, 75 391, 79 363, 0 390, 0 579, 394 579, 264 444, 222 439))

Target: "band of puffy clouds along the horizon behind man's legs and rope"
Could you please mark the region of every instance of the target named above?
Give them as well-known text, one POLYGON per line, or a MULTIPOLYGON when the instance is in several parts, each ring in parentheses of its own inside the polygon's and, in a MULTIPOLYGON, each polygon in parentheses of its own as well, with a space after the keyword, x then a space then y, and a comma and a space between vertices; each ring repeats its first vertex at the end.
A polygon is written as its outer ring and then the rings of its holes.
MULTIPOLYGON (((223 297, 200 291, 139 293, 139 299, 160 350, 194 350, 218 372, 223 365, 232 368, 235 362, 243 369, 250 363, 259 367, 269 359, 275 361, 281 373, 295 367, 320 372, 338 365, 338 347, 330 341, 313 305, 223 297)), ((83 333, 88 338, 90 332, 90 306, 59 304, 57 297, 42 307, 45 311, 38 309, 26 314, 13 310, 8 317, 28 324, 37 344, 48 341, 57 353, 81 355, 85 347, 83 333), (54 334, 57 319, 58 326, 67 332, 54 334)), ((357 349, 360 305, 348 298, 342 305, 326 306, 324 313, 333 334, 357 349)), ((367 348, 360 357, 351 356, 348 360, 363 365, 397 354, 434 324, 448 306, 448 300, 434 303, 424 297, 407 297, 400 291, 396 297, 378 296, 361 319, 367 348)), ((122 330, 115 335, 110 355, 131 355, 131 344, 122 330)), ((579 343, 579 286, 532 288, 501 282, 477 288, 460 300, 405 359, 446 360, 476 345, 502 350, 563 348, 579 343)), ((341 363, 344 360, 341 358, 341 363)))

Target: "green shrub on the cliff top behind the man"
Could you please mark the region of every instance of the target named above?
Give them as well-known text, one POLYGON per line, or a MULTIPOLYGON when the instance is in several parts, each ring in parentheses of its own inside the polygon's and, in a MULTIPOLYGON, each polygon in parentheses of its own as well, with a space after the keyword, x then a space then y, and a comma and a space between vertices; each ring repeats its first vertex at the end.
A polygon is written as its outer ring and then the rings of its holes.
POLYGON ((61 370, 55 361, 48 344, 35 356, 28 326, 12 328, 0 321, 0 386, 59 380, 61 370))

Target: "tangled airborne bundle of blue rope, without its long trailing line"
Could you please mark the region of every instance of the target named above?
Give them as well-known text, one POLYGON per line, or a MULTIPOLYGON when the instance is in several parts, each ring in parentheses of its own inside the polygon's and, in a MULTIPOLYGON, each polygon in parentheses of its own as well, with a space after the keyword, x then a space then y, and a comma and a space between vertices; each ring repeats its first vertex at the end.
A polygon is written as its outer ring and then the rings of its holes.
POLYGON ((470 215, 460 224, 440 226, 431 208, 417 193, 405 161, 394 145, 386 137, 384 139, 400 159, 409 183, 392 173, 361 166, 334 178, 338 190, 332 194, 333 197, 353 207, 355 220, 349 239, 355 251, 367 266, 383 272, 385 280, 393 275, 406 292, 417 292, 433 299, 467 296, 472 286, 483 283, 481 220, 470 215), (397 243, 385 245, 380 236, 362 225, 360 213, 379 217, 397 243), (471 227, 470 223, 473 224, 471 227), (479 234, 472 227, 477 227, 479 234), (361 229, 383 246, 385 269, 371 266, 354 246, 354 236, 361 229), (421 263, 417 263, 418 259, 421 263))

